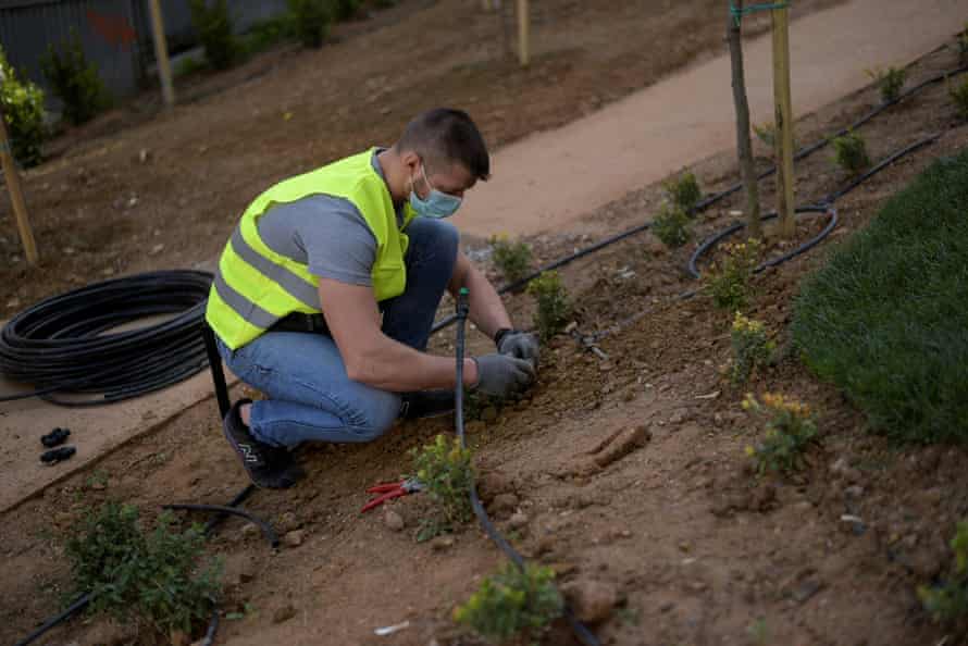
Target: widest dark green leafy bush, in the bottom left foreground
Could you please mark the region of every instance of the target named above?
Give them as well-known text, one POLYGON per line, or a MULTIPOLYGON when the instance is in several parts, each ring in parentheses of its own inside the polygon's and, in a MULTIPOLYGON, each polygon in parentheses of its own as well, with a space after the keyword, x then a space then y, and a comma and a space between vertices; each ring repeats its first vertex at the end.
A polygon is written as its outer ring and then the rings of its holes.
POLYGON ((222 564, 200 563, 204 534, 200 525, 172 530, 162 513, 150 534, 138 510, 109 502, 73 527, 65 554, 75 594, 90 593, 89 611, 125 621, 134 613, 160 633, 191 632, 211 614, 221 585, 222 564))

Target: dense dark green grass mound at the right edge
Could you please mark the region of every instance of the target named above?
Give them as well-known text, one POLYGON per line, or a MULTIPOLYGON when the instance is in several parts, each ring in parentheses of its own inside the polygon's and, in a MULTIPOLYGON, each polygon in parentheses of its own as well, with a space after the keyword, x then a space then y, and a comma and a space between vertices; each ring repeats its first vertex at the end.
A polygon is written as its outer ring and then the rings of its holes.
POLYGON ((968 439, 968 151, 939 160, 802 283, 792 332, 809 368, 873 428, 968 439))

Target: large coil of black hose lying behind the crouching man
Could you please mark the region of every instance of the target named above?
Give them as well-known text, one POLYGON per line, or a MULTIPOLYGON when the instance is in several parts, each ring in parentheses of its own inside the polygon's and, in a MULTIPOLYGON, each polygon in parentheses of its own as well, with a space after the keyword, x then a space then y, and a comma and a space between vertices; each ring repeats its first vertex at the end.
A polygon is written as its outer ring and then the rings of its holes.
POLYGON ((45 299, 0 332, 0 372, 62 406, 98 406, 152 393, 208 365, 201 323, 212 274, 159 271, 45 299), (160 323, 108 332, 147 316, 160 323), (60 395, 86 397, 63 399, 60 395))

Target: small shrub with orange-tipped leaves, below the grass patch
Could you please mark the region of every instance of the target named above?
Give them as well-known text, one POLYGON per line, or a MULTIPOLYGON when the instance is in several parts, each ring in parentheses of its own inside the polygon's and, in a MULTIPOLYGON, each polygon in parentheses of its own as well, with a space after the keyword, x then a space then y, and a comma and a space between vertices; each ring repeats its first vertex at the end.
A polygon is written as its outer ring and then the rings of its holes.
POLYGON ((789 473, 799 469, 804 452, 817 438, 817 423, 810 407, 767 393, 762 403, 747 395, 743 409, 767 420, 762 442, 746 447, 746 455, 756 461, 756 472, 761 475, 767 471, 789 473))

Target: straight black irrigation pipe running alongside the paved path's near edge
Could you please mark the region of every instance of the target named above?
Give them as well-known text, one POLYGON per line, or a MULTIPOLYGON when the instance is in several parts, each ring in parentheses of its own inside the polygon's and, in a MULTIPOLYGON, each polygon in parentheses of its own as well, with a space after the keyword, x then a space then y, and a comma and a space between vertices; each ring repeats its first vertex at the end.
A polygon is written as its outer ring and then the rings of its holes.
MULTIPOLYGON (((953 76, 957 76, 957 75, 959 75, 959 74, 964 74, 964 73, 966 73, 966 72, 968 72, 968 65, 958 67, 957 70, 953 70, 953 71, 951 71, 951 72, 944 72, 944 73, 939 74, 939 75, 936 75, 936 76, 932 76, 931 78, 929 78, 929 79, 927 79, 927 80, 924 80, 924 82, 922 82, 922 83, 919 83, 919 84, 916 85, 915 87, 913 87, 913 88, 910 88, 909 90, 903 92, 901 96, 898 96, 898 97, 897 97, 896 99, 894 99, 893 101, 885 101, 885 102, 880 103, 877 108, 874 108, 873 110, 871 110, 870 112, 868 112, 867 114, 865 114, 864 116, 861 116, 860 119, 858 119, 857 121, 855 121, 854 123, 852 123, 851 125, 848 125, 847 127, 842 128, 841 131, 839 131, 837 133, 835 133, 833 136, 831 136, 831 137, 824 137, 823 139, 820 139, 819 141, 816 141, 816 142, 814 142, 814 144, 811 144, 811 145, 809 145, 809 146, 806 146, 806 147, 804 147, 804 148, 801 148, 801 149, 796 152, 796 154, 794 154, 794 157, 793 157, 794 160, 799 161, 799 160, 802 160, 802 159, 806 159, 807 157, 814 154, 815 152, 817 152, 817 151, 820 150, 821 148, 824 148, 824 147, 829 146, 829 145, 830 145, 830 141, 831 141, 833 138, 835 138, 835 137, 842 137, 842 136, 846 135, 847 133, 849 133, 849 132, 852 132, 852 131, 855 131, 855 129, 861 127, 862 125, 867 124, 868 122, 870 122, 871 120, 873 120, 876 116, 878 116, 879 114, 881 114, 882 112, 884 112, 884 111, 888 110, 889 108, 891 108, 891 107, 893 107, 893 105, 895 105, 895 104, 897 104, 897 103, 904 101, 905 99, 907 99, 907 98, 909 98, 909 97, 913 97, 913 96, 917 95, 918 92, 920 92, 920 91, 923 90, 924 88, 927 88, 927 87, 929 87, 929 86, 932 86, 932 85, 936 85, 936 84, 939 84, 939 83, 943 83, 943 82, 947 80, 948 78, 951 78, 951 77, 953 77, 953 76)), ((924 144, 921 144, 921 145, 924 145, 924 144)), ((909 151, 908 151, 908 152, 909 152, 909 151)), ((905 154, 906 154, 906 153, 905 153, 905 154)), ((892 160, 892 161, 893 161, 893 160, 892 160)), ((770 177, 770 176, 774 175, 775 173, 777 173, 777 166, 771 166, 771 167, 769 167, 769 169, 767 169, 767 170, 760 172, 760 173, 757 175, 757 179, 766 179, 767 177, 770 177)), ((867 174, 865 174, 865 175, 866 175, 866 176, 862 176, 864 179, 867 179, 867 178, 870 176, 870 175, 867 175, 867 174)), ((864 179, 861 179, 861 182, 862 182, 864 179)), ((855 187, 852 187, 852 188, 855 188, 855 187)), ((723 190, 721 190, 721 191, 719 191, 719 192, 710 194, 710 195, 708 195, 706 198, 704 198, 703 200, 700 200, 695 207, 693 207, 693 209, 690 210, 690 214, 702 213, 703 211, 705 211, 705 210, 708 209, 709 207, 711 207, 711 206, 716 204, 717 202, 719 202, 719 201, 721 201, 721 200, 723 200, 723 199, 730 197, 731 195, 733 195, 733 194, 735 194, 735 192, 739 192, 739 191, 742 190, 742 189, 743 189, 743 183, 742 183, 742 182, 737 182, 736 184, 733 184, 732 186, 730 186, 730 187, 728 187, 728 188, 725 188, 725 189, 723 189, 723 190)), ((836 195, 836 194, 834 194, 834 195, 836 195)), ((836 195, 836 197, 842 197, 843 195, 844 195, 844 194, 842 192, 842 194, 840 194, 840 195, 836 195)), ((832 203, 833 201, 834 201, 834 200, 828 198, 828 199, 826 199, 826 200, 821 200, 820 204, 828 204, 828 203, 832 203)), ((607 238, 605 238, 605 239, 603 239, 603 240, 599 240, 598 243, 595 243, 594 245, 590 245, 590 246, 587 246, 587 247, 584 247, 584 248, 582 248, 582 249, 579 249, 579 250, 575 251, 574 253, 571 253, 571 254, 569 254, 569 256, 564 256, 564 257, 562 257, 562 258, 559 258, 558 260, 554 260, 554 261, 551 261, 551 262, 549 262, 549 263, 547 263, 547 264, 545 264, 545 265, 542 265, 541 269, 538 269, 538 270, 536 270, 536 271, 534 271, 534 272, 528 274, 528 275, 524 276, 523 278, 520 278, 520 279, 518 279, 518 281, 516 281, 516 282, 513 282, 513 283, 509 283, 509 284, 507 284, 507 285, 504 285, 502 287, 500 287, 500 288, 497 290, 497 293, 498 293, 498 294, 507 294, 508 291, 514 291, 514 290, 517 290, 517 289, 520 289, 520 288, 524 287, 525 285, 528 285, 529 283, 531 283, 532 281, 534 281, 535 278, 537 278, 538 276, 541 276, 544 272, 548 272, 548 271, 556 270, 556 269, 558 269, 558 268, 560 268, 560 266, 564 266, 564 265, 567 265, 567 264, 569 264, 569 263, 571 263, 571 262, 574 262, 575 260, 579 260, 580 258, 584 258, 585 256, 588 256, 590 253, 595 253, 596 251, 599 251, 599 250, 601 250, 601 249, 604 249, 604 248, 606 248, 606 247, 609 247, 609 246, 611 246, 611 245, 615 245, 616 243, 619 243, 619 241, 621 241, 621 240, 624 240, 625 238, 629 238, 629 237, 631 237, 631 236, 634 236, 634 235, 636 235, 636 234, 640 234, 640 233, 646 231, 647 228, 649 228, 649 226, 651 226, 651 222, 644 222, 644 223, 642 223, 642 224, 637 224, 637 225, 635 225, 635 226, 633 226, 633 227, 631 227, 631 228, 628 228, 628 229, 622 231, 622 232, 620 232, 620 233, 618 233, 618 234, 615 234, 615 235, 612 235, 612 236, 609 236, 609 237, 607 237, 607 238)), ((818 240, 818 241, 819 241, 819 240, 818 240)), ((804 249, 804 251, 806 251, 806 249, 804 249)), ((789 259, 787 259, 787 260, 789 260, 789 259)), ((691 271, 691 273, 692 273, 692 271, 691 271)), ((694 277, 697 277, 695 274, 693 274, 693 275, 694 275, 694 277)), ((449 325, 454 324, 456 321, 457 321, 457 314, 450 314, 450 315, 448 315, 448 316, 445 316, 444 319, 442 319, 440 321, 438 321, 437 323, 434 324, 434 326, 431 328, 431 334, 436 333, 436 332, 439 332, 440 330, 444 330, 445 327, 448 327, 449 325)))

